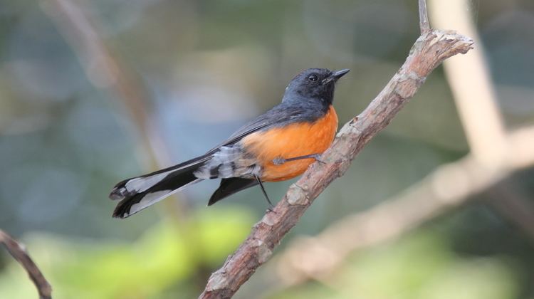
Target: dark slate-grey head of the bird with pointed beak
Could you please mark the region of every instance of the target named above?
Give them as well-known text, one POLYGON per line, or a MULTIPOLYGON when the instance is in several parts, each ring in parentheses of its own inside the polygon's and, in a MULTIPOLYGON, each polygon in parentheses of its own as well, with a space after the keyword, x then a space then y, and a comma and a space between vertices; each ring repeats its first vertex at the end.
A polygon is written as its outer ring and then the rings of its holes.
POLYGON ((291 80, 282 102, 318 100, 323 105, 330 105, 334 98, 335 82, 348 72, 348 69, 331 71, 326 68, 308 68, 291 80))

